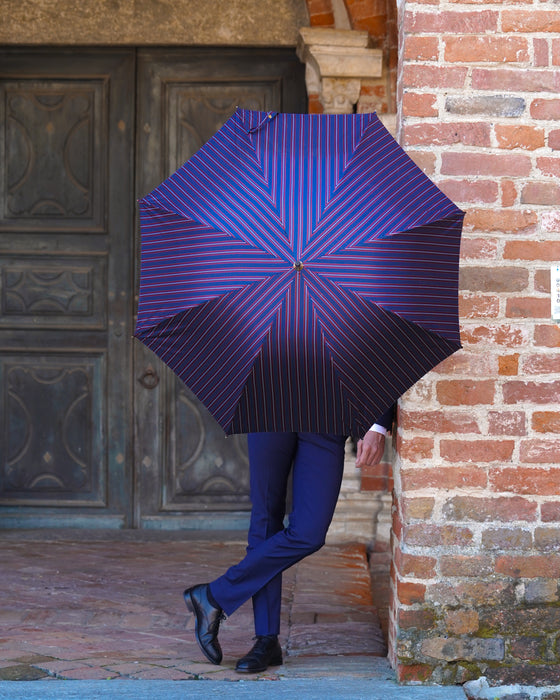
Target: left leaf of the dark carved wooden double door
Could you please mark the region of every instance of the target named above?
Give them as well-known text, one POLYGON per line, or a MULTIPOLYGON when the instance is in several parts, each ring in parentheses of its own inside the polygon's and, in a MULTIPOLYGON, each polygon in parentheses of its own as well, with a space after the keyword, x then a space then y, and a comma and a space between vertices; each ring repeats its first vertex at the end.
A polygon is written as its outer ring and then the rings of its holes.
POLYGON ((0 526, 131 511, 134 52, 0 55, 0 526))

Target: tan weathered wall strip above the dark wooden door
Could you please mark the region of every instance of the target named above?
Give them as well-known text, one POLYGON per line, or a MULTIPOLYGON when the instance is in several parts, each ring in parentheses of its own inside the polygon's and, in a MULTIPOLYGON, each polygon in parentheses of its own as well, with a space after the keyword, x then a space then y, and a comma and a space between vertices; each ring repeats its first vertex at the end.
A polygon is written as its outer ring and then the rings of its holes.
POLYGON ((305 0, 3 0, 2 44, 295 46, 305 0))

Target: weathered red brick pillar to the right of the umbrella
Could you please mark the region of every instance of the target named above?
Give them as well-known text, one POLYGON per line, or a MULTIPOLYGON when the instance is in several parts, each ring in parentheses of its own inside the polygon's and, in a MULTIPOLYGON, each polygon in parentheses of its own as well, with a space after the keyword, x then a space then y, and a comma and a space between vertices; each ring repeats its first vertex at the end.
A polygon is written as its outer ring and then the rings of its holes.
POLYGON ((401 402, 390 658, 558 684, 558 8, 403 0, 399 31, 399 139, 467 216, 464 349, 401 402))

